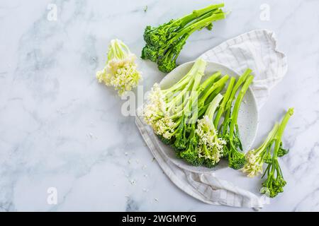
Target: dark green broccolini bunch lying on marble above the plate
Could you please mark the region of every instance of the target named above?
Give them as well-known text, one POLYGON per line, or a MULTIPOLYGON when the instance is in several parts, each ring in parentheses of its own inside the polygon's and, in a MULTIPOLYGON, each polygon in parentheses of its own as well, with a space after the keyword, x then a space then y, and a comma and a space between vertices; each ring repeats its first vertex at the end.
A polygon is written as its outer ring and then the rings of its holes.
POLYGON ((148 25, 143 35, 146 45, 142 49, 142 59, 156 62, 159 71, 172 71, 177 66, 177 57, 187 38, 196 30, 211 30, 212 21, 225 18, 225 13, 220 9, 223 6, 224 4, 207 6, 156 28, 148 25))

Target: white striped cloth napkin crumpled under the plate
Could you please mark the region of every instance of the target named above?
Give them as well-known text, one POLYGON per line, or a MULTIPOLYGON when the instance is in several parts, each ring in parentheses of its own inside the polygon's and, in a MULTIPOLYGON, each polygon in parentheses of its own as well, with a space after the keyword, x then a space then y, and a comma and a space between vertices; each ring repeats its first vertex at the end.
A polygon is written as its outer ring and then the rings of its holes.
MULTIPOLYGON (((247 68, 252 69, 254 82, 251 88, 259 109, 266 102, 269 91, 281 81, 287 71, 286 56, 276 49, 274 32, 269 30, 252 30, 234 37, 208 50, 201 58, 224 64, 239 74, 247 68)), ((181 169, 164 155, 161 145, 157 143, 157 136, 145 124, 142 116, 138 114, 135 122, 159 166, 179 189, 213 205, 254 209, 264 206, 264 197, 219 179, 214 173, 195 173, 181 169)))

